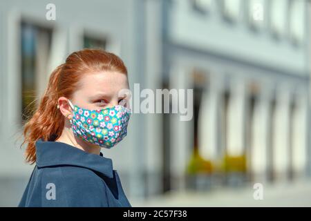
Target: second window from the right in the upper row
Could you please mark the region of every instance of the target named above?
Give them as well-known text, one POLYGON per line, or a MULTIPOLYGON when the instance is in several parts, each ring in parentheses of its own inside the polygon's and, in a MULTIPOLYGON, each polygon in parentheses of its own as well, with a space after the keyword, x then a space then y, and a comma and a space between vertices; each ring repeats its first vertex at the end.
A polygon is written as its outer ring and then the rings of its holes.
POLYGON ((288 1, 273 0, 270 1, 270 4, 270 28, 272 30, 272 34, 279 37, 280 35, 285 34, 288 1))

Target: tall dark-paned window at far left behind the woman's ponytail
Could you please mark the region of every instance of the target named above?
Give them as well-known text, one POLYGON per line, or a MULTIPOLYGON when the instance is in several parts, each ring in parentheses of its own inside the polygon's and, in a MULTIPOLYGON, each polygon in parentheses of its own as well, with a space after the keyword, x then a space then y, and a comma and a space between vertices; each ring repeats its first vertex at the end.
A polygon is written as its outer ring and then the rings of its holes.
POLYGON ((21 23, 21 119, 31 117, 44 91, 52 30, 21 23))

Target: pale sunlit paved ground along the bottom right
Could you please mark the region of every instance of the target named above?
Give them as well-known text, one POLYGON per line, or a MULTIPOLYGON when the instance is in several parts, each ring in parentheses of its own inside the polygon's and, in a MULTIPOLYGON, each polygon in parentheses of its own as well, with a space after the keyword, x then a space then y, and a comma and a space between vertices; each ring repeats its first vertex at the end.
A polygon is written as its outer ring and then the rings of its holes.
POLYGON ((254 200, 253 186, 207 192, 169 193, 132 206, 311 206, 311 181, 263 186, 263 200, 254 200), (249 187, 249 188, 248 188, 249 187))

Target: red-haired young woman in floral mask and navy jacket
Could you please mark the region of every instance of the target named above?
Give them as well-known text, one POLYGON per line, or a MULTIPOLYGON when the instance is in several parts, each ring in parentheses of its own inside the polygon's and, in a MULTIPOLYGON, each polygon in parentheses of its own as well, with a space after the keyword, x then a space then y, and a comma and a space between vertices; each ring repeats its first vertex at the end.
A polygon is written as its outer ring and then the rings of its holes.
POLYGON ((26 161, 36 166, 19 206, 131 206, 100 152, 126 136, 128 89, 124 63, 103 50, 73 52, 53 71, 24 127, 26 161))

